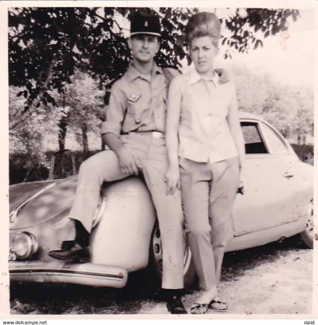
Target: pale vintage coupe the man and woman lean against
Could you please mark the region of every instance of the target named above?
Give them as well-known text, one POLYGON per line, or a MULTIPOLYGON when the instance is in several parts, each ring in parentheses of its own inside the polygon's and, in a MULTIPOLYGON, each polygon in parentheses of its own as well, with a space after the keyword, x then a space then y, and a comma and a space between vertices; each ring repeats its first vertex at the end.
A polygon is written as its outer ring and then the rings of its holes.
MULTIPOLYGON (((313 167, 300 162, 266 121, 240 113, 248 191, 237 194, 226 251, 242 250, 300 234, 313 246, 313 167)), ((77 176, 10 186, 11 281, 65 282, 121 288, 130 272, 147 269, 160 284, 160 230, 142 178, 104 184, 90 241, 89 263, 54 260, 48 252, 72 239, 68 219, 77 176)), ((185 238, 185 285, 195 276, 185 238)))

